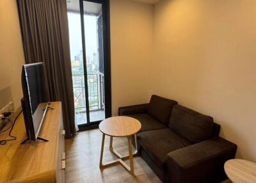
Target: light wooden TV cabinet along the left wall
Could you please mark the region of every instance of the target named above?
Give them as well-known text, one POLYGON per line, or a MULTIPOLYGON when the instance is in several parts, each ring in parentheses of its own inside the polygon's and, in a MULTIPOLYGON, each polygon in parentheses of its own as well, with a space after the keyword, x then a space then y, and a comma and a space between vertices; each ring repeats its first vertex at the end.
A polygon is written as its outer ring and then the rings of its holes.
MULTIPOLYGON (((27 136, 23 116, 19 116, 12 131, 16 141, 0 145, 0 182, 65 182, 61 102, 52 102, 51 107, 54 110, 47 111, 40 132, 48 142, 38 140, 20 145, 27 136)), ((0 138, 6 138, 6 134, 0 134, 0 138)))

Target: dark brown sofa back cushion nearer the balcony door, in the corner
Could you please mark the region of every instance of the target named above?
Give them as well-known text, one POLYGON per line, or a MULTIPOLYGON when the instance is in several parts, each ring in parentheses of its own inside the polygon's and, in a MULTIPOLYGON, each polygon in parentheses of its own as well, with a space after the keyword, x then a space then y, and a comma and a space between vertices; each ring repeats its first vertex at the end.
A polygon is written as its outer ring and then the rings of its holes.
POLYGON ((175 100, 166 99, 157 95, 152 95, 148 105, 147 113, 156 120, 168 125, 172 107, 178 104, 175 100))

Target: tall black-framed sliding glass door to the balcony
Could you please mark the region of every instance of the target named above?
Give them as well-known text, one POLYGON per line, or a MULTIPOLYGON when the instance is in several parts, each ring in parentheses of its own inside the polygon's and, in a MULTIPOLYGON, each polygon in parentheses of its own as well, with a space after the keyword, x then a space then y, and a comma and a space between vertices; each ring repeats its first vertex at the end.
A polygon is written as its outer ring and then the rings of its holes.
POLYGON ((79 129, 111 116, 108 1, 67 1, 76 123, 79 129))

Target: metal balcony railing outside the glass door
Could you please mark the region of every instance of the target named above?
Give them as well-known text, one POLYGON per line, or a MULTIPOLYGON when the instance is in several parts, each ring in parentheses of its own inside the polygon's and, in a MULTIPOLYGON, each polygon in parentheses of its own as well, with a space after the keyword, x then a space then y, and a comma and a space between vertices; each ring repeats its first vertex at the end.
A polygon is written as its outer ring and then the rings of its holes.
MULTIPOLYGON (((84 88, 84 75, 74 74, 73 90, 74 90, 74 103, 76 112, 86 111, 86 97, 84 88)), ((90 111, 104 109, 104 75, 103 74, 88 74, 88 99, 90 111)))

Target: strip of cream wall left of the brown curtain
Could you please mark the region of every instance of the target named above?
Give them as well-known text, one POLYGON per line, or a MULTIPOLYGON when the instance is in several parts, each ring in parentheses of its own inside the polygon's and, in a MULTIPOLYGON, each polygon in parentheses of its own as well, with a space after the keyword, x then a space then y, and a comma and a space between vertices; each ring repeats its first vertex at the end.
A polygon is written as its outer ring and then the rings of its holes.
POLYGON ((0 3, 0 102, 1 106, 13 100, 20 107, 22 97, 21 68, 24 52, 19 16, 15 0, 0 3))

